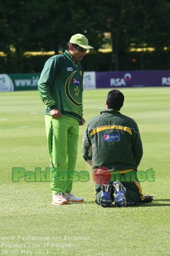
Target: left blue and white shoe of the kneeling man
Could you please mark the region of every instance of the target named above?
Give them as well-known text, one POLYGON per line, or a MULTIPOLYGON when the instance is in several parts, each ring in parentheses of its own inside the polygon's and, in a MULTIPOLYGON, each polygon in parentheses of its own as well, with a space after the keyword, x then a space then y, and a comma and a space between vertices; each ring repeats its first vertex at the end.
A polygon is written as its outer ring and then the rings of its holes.
POLYGON ((107 184, 102 184, 102 195, 100 199, 100 205, 102 207, 111 207, 111 183, 108 182, 107 184))

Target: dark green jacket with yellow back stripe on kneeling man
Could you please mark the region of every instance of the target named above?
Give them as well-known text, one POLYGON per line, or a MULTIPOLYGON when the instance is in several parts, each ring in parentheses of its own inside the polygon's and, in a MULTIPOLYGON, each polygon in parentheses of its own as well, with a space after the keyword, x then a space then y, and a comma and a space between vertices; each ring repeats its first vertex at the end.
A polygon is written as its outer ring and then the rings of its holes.
POLYGON ((93 160, 95 169, 137 169, 142 154, 139 129, 130 117, 119 111, 106 109, 88 122, 83 137, 83 157, 86 161, 93 160), (92 157, 89 154, 91 145, 92 157))

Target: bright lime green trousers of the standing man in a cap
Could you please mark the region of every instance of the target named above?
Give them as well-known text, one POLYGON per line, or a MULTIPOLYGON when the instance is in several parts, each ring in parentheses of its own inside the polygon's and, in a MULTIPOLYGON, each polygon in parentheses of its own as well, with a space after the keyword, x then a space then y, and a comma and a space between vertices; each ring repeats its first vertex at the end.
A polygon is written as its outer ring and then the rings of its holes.
MULTIPOLYGON (((59 180, 59 172, 75 171, 77 160, 77 145, 79 136, 79 120, 70 116, 57 119, 45 115, 46 135, 48 151, 51 158, 52 181, 51 191, 53 195, 59 192, 63 194, 72 190, 71 179, 59 180)), ((65 176, 65 175, 64 175, 65 176)))

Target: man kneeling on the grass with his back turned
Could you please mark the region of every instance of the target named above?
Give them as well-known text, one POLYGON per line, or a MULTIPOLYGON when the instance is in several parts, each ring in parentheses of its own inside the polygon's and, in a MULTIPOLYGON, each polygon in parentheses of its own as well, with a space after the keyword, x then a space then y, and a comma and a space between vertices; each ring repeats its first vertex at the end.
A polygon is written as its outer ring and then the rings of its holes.
POLYGON ((136 177, 143 155, 142 142, 136 122, 119 112, 123 102, 123 93, 111 90, 105 110, 90 119, 83 138, 83 157, 95 170, 95 199, 102 207, 111 207, 113 201, 122 207, 153 200, 142 194, 136 177))

